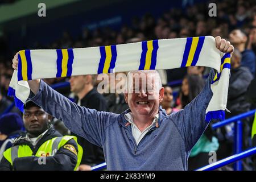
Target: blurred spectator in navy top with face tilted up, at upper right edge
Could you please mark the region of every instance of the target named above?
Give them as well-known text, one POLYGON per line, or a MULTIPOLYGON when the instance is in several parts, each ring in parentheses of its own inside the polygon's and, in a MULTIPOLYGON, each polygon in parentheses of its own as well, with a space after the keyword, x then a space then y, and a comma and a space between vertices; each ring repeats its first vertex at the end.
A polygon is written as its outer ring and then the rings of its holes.
POLYGON ((233 44, 234 48, 242 53, 241 66, 250 69, 251 74, 255 74, 255 55, 250 49, 246 49, 247 36, 240 30, 235 29, 229 34, 230 42, 233 44))

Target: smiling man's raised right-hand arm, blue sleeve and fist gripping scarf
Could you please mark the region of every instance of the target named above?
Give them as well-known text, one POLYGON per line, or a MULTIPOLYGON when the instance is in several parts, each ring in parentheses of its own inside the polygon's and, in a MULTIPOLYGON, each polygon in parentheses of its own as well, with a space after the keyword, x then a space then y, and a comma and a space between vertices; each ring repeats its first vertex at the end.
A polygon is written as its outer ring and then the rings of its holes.
MULTIPOLYGON (((232 55, 234 49, 229 42, 220 37, 216 37, 216 47, 222 52, 229 52, 230 55, 232 55)), ((215 73, 212 69, 201 93, 183 110, 173 115, 173 120, 180 130, 181 137, 187 143, 187 151, 192 149, 208 126, 208 122, 205 121, 205 112, 213 96, 210 83, 214 75, 215 73)))

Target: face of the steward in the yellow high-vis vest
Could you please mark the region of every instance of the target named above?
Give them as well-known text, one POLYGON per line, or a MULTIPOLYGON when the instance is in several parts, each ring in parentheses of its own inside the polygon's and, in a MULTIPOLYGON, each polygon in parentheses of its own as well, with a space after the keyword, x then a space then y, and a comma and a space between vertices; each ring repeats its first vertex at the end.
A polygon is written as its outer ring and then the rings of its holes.
POLYGON ((49 115, 40 107, 31 106, 24 109, 23 122, 32 137, 38 137, 48 129, 49 115))

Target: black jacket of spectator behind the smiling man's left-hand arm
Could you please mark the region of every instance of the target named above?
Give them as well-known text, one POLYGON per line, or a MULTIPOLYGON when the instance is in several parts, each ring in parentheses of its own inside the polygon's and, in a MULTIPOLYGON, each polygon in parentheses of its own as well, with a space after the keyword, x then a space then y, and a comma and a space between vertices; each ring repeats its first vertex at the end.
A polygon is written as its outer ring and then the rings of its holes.
MULTIPOLYGON (((76 98, 77 103, 77 98, 76 98)), ((96 109, 97 111, 106 111, 107 104, 105 98, 97 92, 94 88, 88 92, 84 98, 81 100, 81 106, 87 107, 89 109, 96 109)), ((80 144, 84 150, 82 154, 81 164, 88 164, 90 166, 94 164, 100 164, 105 162, 104 153, 101 147, 98 147, 88 140, 72 133, 77 137, 77 142, 80 144)))

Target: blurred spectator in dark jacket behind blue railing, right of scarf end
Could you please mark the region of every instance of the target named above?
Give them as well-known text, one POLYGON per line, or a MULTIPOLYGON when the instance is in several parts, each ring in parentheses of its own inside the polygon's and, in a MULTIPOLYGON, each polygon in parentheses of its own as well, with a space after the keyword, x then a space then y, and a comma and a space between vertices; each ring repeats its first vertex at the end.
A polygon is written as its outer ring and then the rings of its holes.
MULTIPOLYGON (((246 101, 245 93, 253 79, 251 72, 248 68, 241 66, 242 55, 238 49, 234 49, 231 58, 231 76, 229 79, 229 92, 228 92, 228 103, 227 108, 231 113, 226 113, 226 118, 233 117, 237 114, 250 110, 250 103, 246 101)), ((220 141, 220 148, 218 150, 218 159, 223 159, 232 155, 233 146, 233 125, 226 125, 221 127, 218 132, 218 139, 220 141)), ((247 119, 243 119, 243 145, 248 147, 250 126, 247 119)))

